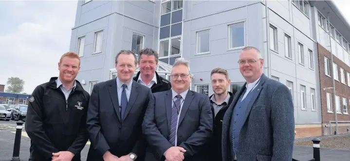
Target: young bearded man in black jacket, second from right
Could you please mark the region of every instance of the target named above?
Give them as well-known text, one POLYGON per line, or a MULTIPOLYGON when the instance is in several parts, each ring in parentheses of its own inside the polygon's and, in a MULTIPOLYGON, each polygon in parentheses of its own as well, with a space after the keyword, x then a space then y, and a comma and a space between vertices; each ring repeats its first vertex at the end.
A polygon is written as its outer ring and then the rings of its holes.
POLYGON ((210 161, 222 161, 222 119, 233 100, 234 94, 227 91, 227 87, 230 86, 231 82, 228 78, 227 70, 220 67, 213 69, 210 73, 210 79, 214 91, 214 94, 209 97, 214 121, 214 132, 210 144, 211 146, 209 147, 209 153, 212 153, 212 155, 210 155, 210 161))

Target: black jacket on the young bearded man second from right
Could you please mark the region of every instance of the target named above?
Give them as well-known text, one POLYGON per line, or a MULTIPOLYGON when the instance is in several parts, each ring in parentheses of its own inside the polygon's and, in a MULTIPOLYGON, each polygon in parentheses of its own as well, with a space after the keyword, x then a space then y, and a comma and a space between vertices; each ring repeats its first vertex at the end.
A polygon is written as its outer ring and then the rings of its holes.
MULTIPOLYGON (((226 110, 228 107, 230 107, 230 104, 232 103, 234 95, 231 92, 228 92, 230 95, 230 99, 228 100, 228 103, 226 106, 222 107, 220 111, 216 114, 214 113, 214 107, 211 105, 210 101, 210 106, 211 106, 211 111, 213 112, 213 124, 214 124, 214 130, 213 130, 213 137, 211 139, 211 146, 209 147, 209 153, 212 154, 210 155, 211 159, 210 161, 222 161, 222 154, 221 154, 221 131, 222 131, 222 119, 223 116, 226 113, 226 110)), ((214 95, 214 94, 213 94, 214 95)), ((211 95, 211 97, 213 97, 211 95)))

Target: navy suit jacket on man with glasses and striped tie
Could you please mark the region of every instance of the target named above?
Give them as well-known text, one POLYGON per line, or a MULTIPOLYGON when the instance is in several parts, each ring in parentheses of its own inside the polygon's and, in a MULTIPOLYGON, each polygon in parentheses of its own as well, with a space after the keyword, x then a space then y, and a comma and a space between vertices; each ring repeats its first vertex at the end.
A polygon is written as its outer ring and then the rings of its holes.
MULTIPOLYGON (((142 130, 147 140, 146 161, 164 161, 164 153, 172 145, 170 135, 172 91, 153 94, 142 130)), ((186 149, 184 161, 205 161, 206 147, 213 132, 213 115, 209 97, 188 90, 177 130, 177 145, 186 149)))

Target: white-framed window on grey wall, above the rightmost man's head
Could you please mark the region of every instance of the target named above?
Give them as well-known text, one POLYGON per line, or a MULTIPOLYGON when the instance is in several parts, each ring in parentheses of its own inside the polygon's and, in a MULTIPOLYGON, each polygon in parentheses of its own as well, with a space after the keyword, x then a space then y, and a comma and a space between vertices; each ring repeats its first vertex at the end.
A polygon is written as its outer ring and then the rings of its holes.
POLYGON ((244 23, 228 26, 229 49, 245 46, 244 23))

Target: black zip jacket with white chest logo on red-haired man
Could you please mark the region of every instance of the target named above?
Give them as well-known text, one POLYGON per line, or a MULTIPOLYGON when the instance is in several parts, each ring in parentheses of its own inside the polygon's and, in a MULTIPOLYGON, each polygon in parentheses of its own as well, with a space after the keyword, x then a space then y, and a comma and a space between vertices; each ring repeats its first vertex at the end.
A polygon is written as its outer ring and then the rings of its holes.
POLYGON ((51 161, 52 153, 70 151, 72 161, 80 161, 80 152, 89 136, 86 114, 90 95, 76 81, 66 98, 53 77, 38 85, 29 99, 25 130, 31 139, 30 161, 51 161))

